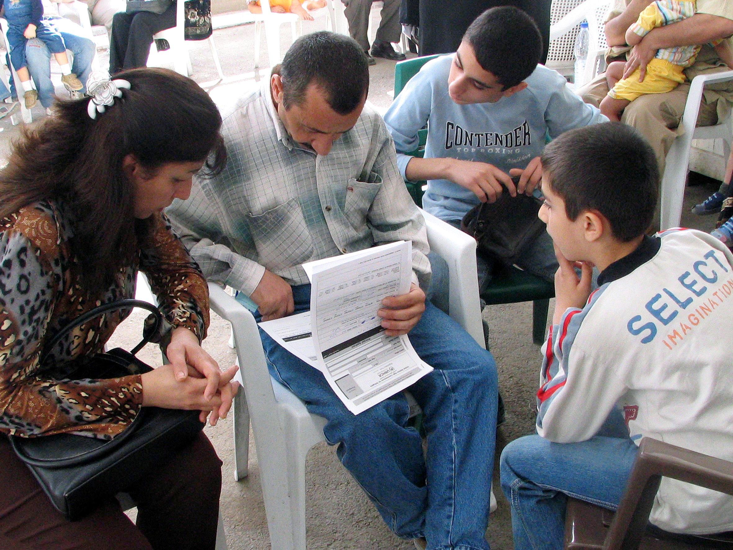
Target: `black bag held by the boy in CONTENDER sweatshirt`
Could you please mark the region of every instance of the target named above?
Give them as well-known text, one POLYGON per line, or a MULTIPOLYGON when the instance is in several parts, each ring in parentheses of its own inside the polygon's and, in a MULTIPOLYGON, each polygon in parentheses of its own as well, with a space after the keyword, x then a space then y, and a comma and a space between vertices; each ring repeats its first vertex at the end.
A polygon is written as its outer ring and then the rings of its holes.
POLYGON ((461 230, 476 239, 480 253, 512 265, 545 230, 545 222, 537 217, 540 206, 542 201, 536 197, 512 197, 504 190, 496 202, 482 202, 468 210, 461 230))

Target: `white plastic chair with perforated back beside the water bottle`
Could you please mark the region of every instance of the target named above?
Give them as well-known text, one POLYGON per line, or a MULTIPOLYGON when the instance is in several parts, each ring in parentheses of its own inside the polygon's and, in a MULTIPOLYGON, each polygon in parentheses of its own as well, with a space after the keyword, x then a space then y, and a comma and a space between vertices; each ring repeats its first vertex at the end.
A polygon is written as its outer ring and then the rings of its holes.
MULTIPOLYGON (((555 1, 553 1, 553 8, 555 1)), ((575 36, 578 35, 575 28, 583 19, 588 21, 589 41, 586 71, 583 75, 583 81, 575 82, 576 87, 591 81, 605 66, 604 57, 608 43, 605 40, 603 27, 605 26, 606 15, 612 7, 614 7, 614 0, 585 0, 572 8, 570 12, 567 12, 559 21, 550 25, 550 48, 552 47, 553 41, 565 34, 574 35, 570 44, 570 59, 574 63, 575 55, 572 54, 572 47, 575 45, 575 36)), ((548 59, 550 59, 549 54, 548 59)))

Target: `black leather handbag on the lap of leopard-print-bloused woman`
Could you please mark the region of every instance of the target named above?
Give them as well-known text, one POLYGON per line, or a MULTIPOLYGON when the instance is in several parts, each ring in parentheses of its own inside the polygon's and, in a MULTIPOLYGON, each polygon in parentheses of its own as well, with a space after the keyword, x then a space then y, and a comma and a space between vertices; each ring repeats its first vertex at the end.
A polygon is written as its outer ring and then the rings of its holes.
MULTIPOLYGON (((63 327, 47 350, 76 326, 104 313, 141 307, 155 315, 155 326, 131 352, 114 348, 97 353, 73 379, 119 378, 147 373, 152 368, 135 357, 158 331, 162 322, 157 307, 138 300, 120 300, 96 307, 63 327), (82 372, 83 371, 83 372, 82 372)), ((42 361, 43 364, 43 361, 42 361)), ((101 500, 125 491, 160 465, 202 430, 199 411, 144 407, 133 422, 114 439, 94 439, 72 433, 24 438, 10 436, 15 454, 34 477, 59 512, 77 520, 101 500)))

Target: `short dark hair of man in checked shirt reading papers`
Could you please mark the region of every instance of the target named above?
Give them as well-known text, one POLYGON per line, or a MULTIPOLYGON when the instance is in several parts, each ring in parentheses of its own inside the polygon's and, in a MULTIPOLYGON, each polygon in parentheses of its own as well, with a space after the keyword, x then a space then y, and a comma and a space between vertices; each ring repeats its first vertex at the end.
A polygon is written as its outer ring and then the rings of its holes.
POLYGON ((349 114, 369 92, 369 65, 356 40, 320 31, 295 40, 279 67, 285 109, 302 105, 312 82, 325 90, 328 105, 349 114))

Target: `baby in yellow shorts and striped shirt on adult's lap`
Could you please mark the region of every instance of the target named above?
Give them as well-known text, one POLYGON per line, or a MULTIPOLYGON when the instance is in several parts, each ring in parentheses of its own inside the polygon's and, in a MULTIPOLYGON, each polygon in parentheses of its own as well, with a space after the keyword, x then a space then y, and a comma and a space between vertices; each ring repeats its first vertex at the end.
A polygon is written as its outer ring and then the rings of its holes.
MULTIPOLYGON (((695 0, 654 1, 639 14, 636 23, 627 29, 626 42, 628 45, 636 45, 652 29, 691 17, 695 15, 696 9, 695 0)), ((721 60, 729 67, 733 67, 733 53, 728 40, 718 40, 712 46, 721 60)), ((600 103, 600 111, 609 120, 618 121, 626 106, 640 95, 671 92, 685 81, 684 70, 695 62, 700 48, 701 45, 661 48, 647 65, 644 81, 641 81, 638 67, 630 76, 622 78, 625 62, 610 63, 606 70, 610 90, 600 103)))

